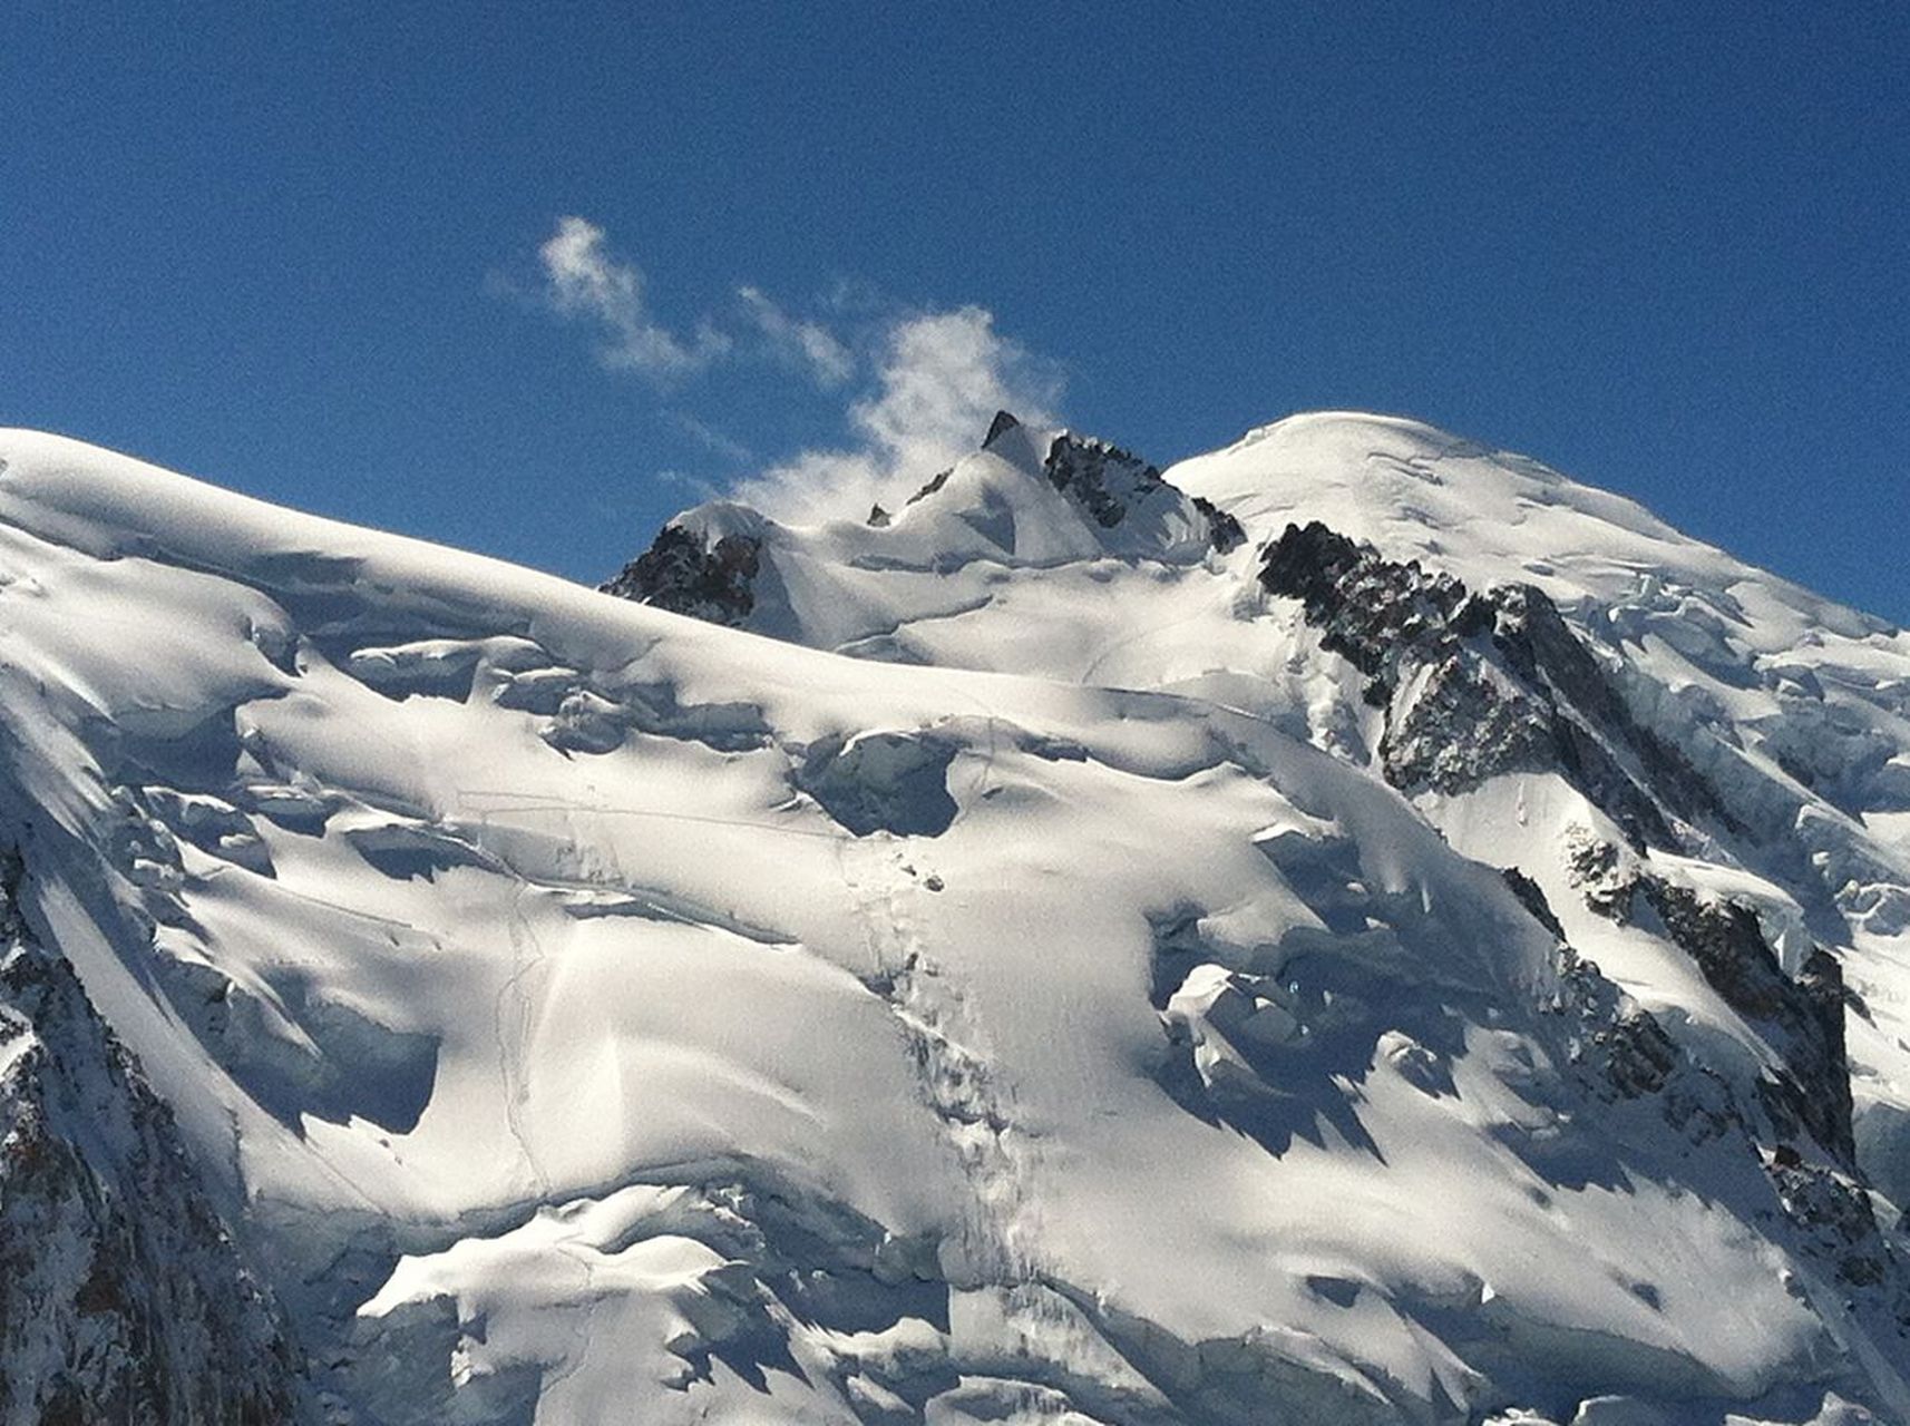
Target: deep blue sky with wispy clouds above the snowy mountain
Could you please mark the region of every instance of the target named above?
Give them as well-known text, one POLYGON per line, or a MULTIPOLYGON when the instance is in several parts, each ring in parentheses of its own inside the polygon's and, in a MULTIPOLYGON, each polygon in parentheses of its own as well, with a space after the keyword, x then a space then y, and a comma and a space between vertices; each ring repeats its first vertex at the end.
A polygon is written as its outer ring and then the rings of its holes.
POLYGON ((1906 76, 1897 4, 25 0, 0 420, 600 578, 997 395, 1360 407, 1902 622, 1906 76))

